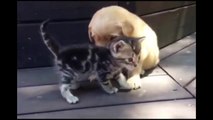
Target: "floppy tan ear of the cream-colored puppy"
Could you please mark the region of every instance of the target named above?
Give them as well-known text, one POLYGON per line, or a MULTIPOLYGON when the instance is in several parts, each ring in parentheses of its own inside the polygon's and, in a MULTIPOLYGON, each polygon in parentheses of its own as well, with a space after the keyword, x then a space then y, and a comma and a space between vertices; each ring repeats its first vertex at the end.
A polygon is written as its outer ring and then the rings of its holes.
POLYGON ((134 30, 133 25, 128 21, 124 21, 121 24, 121 28, 124 36, 130 36, 134 30))

